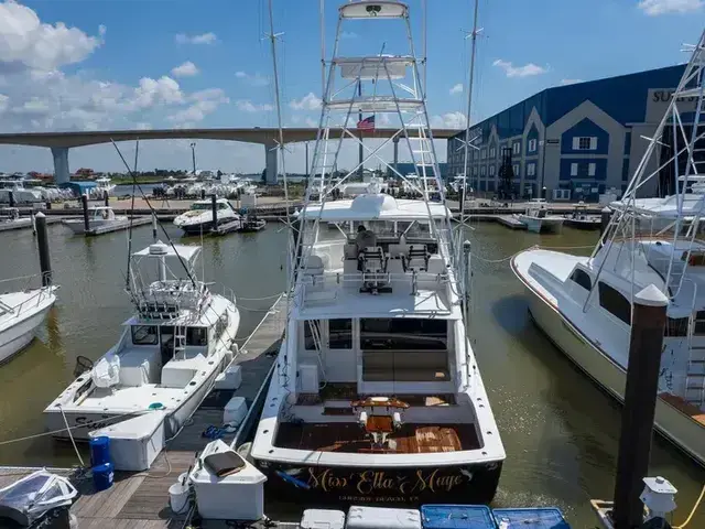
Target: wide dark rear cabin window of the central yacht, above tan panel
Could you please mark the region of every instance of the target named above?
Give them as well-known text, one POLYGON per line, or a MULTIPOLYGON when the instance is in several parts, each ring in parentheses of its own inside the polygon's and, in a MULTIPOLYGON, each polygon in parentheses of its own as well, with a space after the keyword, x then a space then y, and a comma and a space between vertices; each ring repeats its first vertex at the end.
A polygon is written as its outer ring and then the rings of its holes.
POLYGON ((360 348, 445 350, 445 320, 371 319, 360 320, 360 348))

